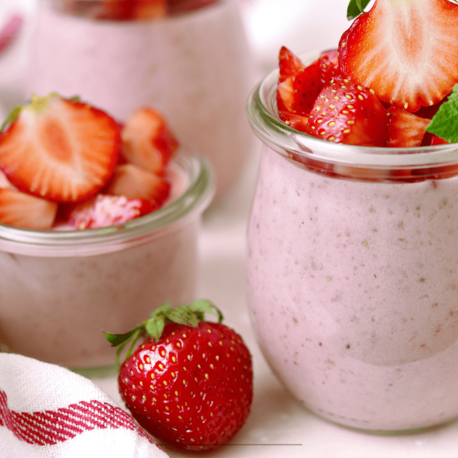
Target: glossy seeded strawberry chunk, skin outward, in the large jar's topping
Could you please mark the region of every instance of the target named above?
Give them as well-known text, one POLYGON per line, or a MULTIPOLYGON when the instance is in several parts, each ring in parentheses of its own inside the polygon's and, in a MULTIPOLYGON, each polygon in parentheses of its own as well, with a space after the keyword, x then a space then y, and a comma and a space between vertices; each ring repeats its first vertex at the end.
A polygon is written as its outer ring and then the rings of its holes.
POLYGON ((386 146, 387 110, 369 89, 337 78, 318 96, 306 133, 350 145, 386 146))

